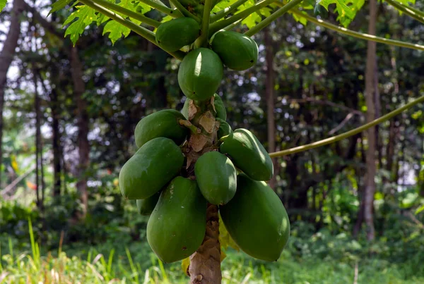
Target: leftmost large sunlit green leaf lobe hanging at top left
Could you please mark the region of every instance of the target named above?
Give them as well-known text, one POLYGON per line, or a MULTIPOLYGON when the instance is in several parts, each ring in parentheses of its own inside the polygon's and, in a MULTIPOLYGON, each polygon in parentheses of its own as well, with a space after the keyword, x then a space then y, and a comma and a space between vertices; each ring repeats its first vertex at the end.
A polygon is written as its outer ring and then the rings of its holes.
POLYGON ((97 15, 92 8, 83 5, 76 6, 76 9, 77 10, 71 13, 64 23, 64 25, 71 23, 71 25, 69 25, 66 29, 65 37, 70 35, 73 44, 76 44, 86 27, 97 20, 97 15))

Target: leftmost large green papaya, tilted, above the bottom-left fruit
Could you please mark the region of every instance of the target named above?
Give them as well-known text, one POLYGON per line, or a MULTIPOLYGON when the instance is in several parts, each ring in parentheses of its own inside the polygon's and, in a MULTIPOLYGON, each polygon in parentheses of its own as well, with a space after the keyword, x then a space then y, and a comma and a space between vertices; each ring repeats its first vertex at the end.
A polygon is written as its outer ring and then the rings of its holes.
POLYGON ((146 199, 179 173, 184 163, 181 149, 172 140, 155 138, 141 147, 119 172, 119 188, 126 199, 146 199))

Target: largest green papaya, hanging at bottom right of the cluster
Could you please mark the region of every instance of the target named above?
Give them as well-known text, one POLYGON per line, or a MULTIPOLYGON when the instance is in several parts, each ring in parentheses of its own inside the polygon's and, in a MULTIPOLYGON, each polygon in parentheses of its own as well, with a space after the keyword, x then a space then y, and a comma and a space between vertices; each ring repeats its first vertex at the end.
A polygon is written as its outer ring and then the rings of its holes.
POLYGON ((251 257, 276 261, 290 236, 290 221, 280 198, 264 182, 240 173, 237 192, 220 206, 232 240, 251 257))

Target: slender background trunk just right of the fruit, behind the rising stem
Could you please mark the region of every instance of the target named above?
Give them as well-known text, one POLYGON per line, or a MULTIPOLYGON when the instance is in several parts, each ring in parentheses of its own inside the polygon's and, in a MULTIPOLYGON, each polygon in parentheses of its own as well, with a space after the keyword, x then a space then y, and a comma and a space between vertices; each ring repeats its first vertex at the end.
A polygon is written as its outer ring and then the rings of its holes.
MULTIPOLYGON (((266 61, 266 120, 268 129, 268 152, 272 153, 276 151, 276 125, 274 116, 274 76, 273 76, 273 48, 272 39, 269 35, 270 28, 267 27, 264 32, 265 36, 265 61, 266 61)), ((269 186, 276 190, 277 180, 277 158, 272 159, 274 175, 269 181, 269 186)))

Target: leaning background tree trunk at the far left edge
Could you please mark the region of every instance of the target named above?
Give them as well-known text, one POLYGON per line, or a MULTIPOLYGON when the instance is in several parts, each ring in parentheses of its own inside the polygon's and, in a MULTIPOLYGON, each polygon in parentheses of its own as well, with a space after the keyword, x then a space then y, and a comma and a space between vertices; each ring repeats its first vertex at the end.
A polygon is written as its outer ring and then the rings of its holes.
MULTIPOLYGON (((6 88, 7 72, 13 61, 15 49, 18 46, 20 35, 20 14, 22 13, 23 0, 13 1, 11 11, 11 24, 8 30, 3 49, 0 53, 0 168, 3 164, 3 109, 4 109, 4 89, 6 88)), ((1 171, 0 171, 0 188, 1 188, 1 171)))

